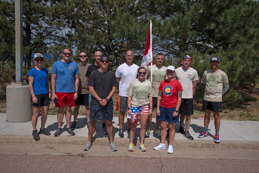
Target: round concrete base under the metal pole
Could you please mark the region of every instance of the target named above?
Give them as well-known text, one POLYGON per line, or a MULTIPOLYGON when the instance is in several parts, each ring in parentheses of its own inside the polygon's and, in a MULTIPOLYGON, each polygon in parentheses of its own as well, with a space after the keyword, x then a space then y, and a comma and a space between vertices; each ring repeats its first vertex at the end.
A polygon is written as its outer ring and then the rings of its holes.
POLYGON ((32 114, 33 110, 29 85, 7 85, 6 121, 15 123, 31 121, 32 114))

